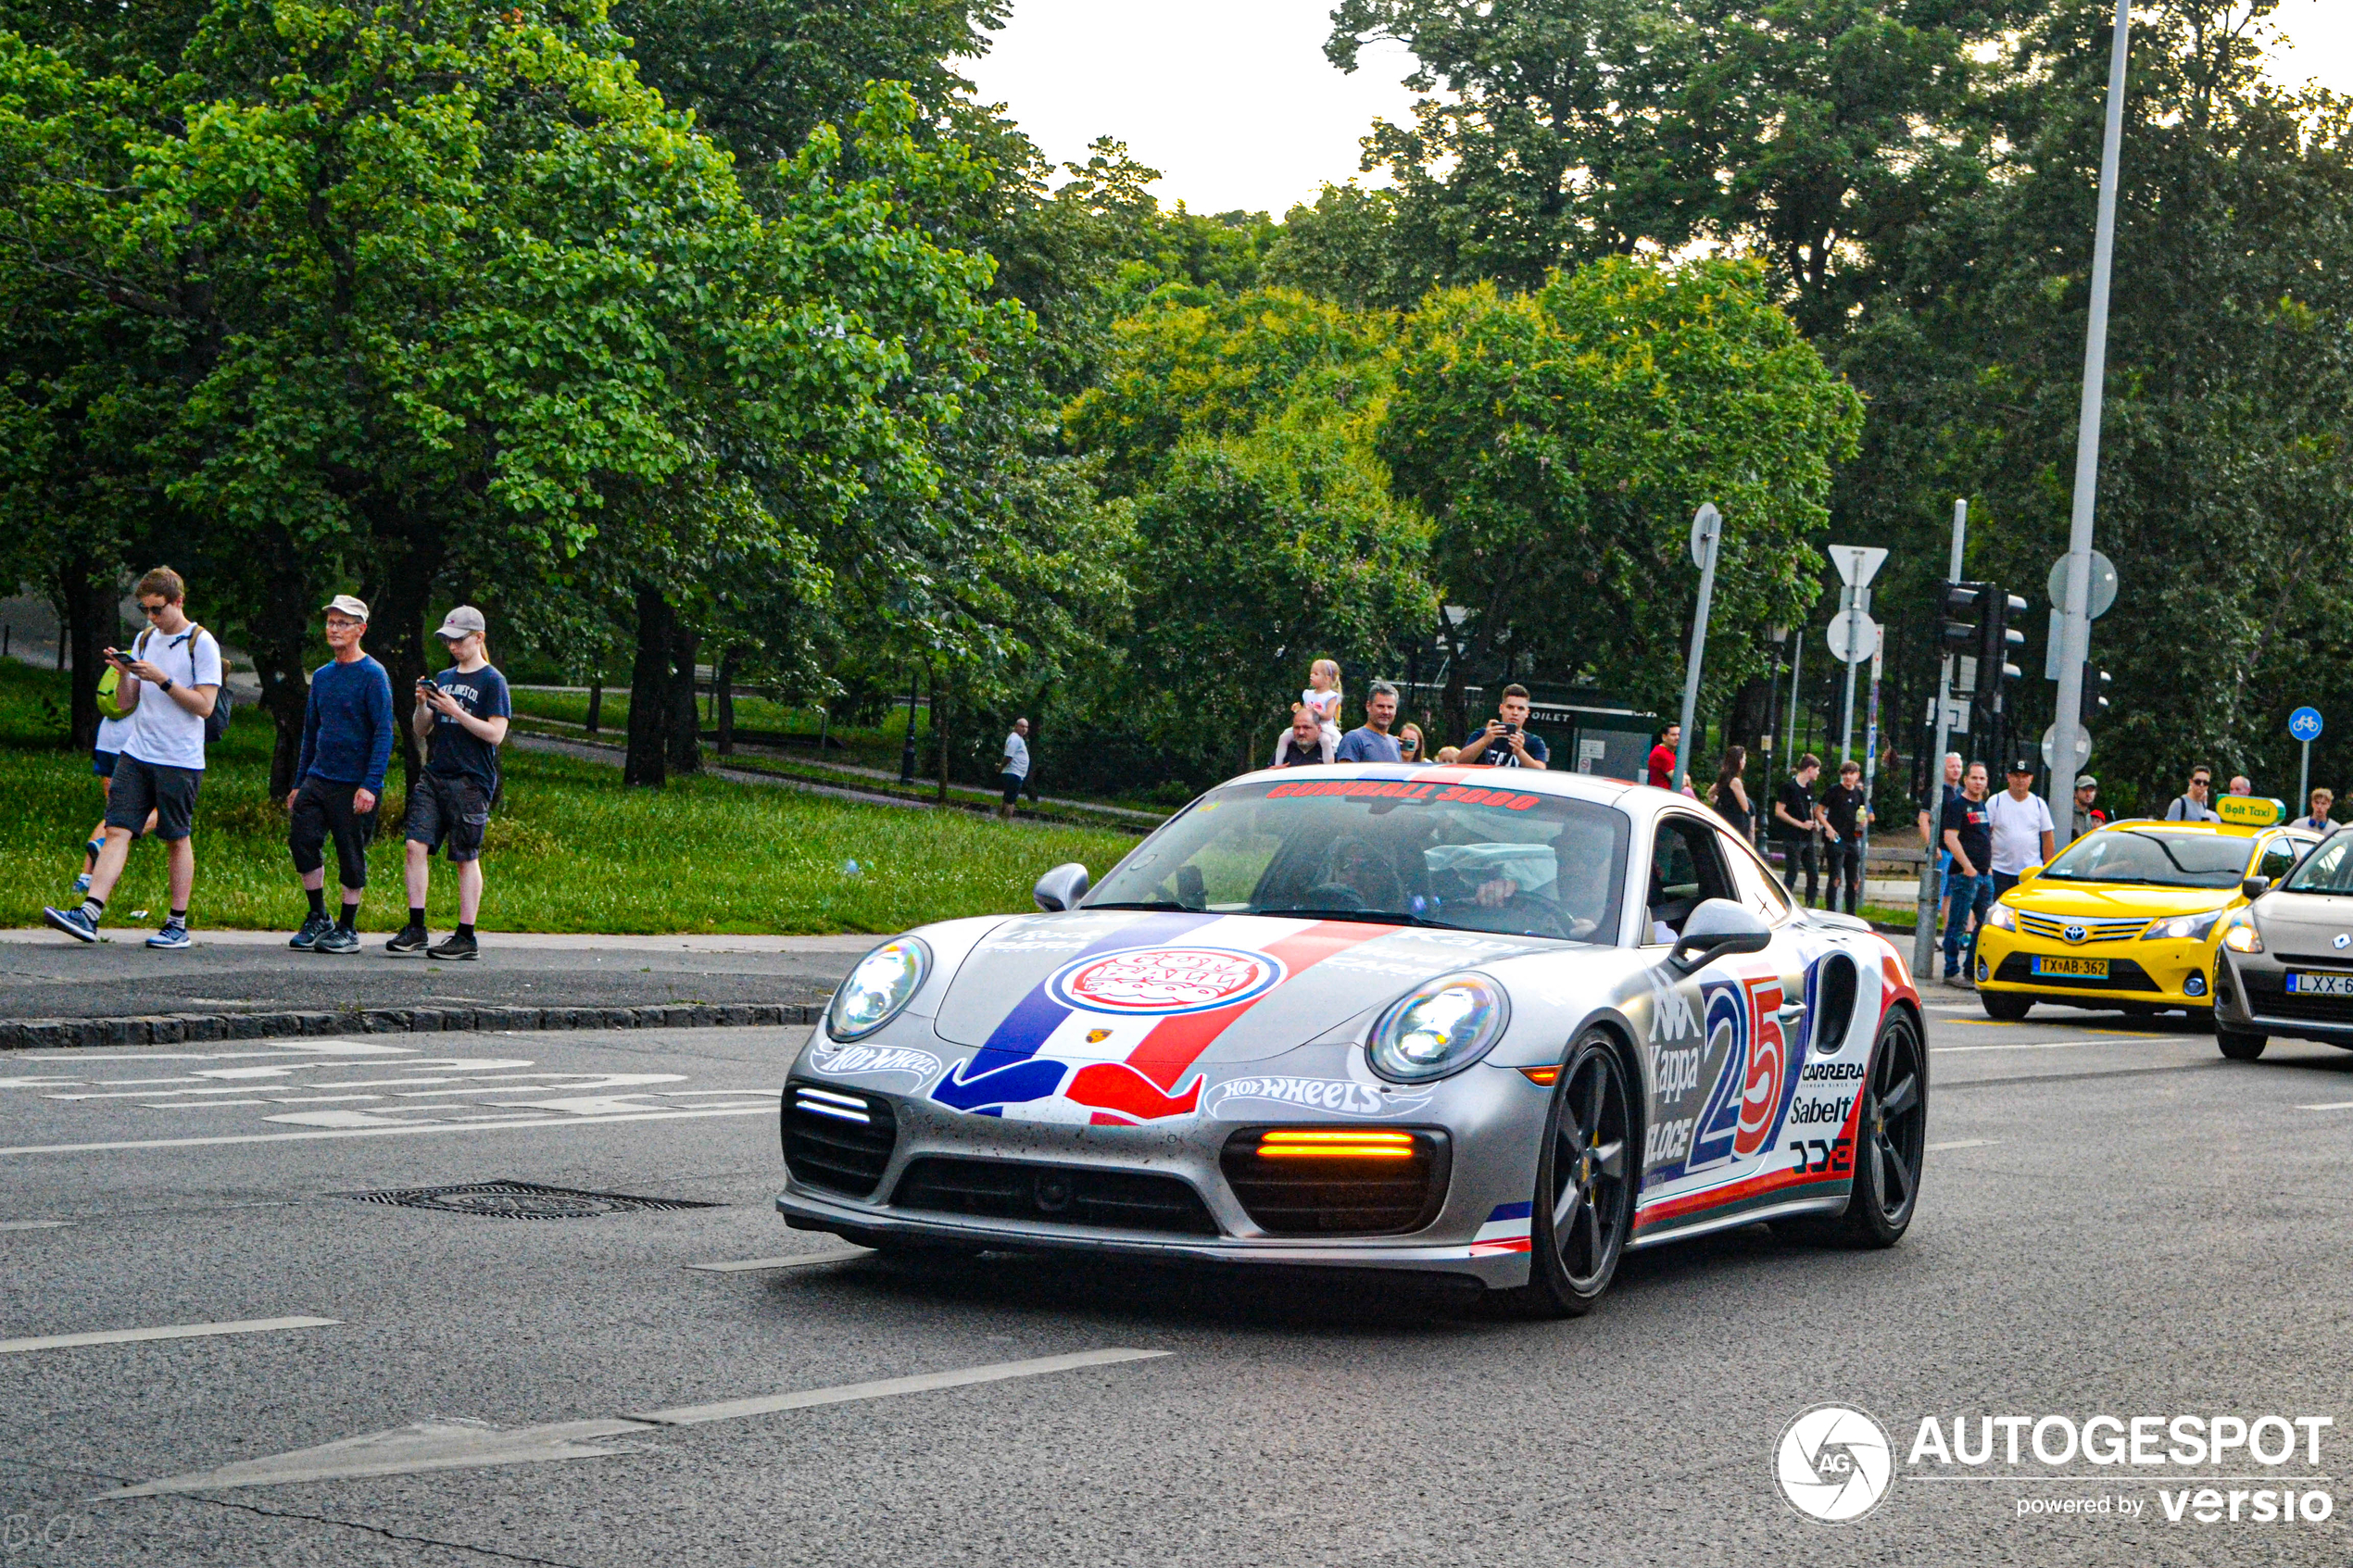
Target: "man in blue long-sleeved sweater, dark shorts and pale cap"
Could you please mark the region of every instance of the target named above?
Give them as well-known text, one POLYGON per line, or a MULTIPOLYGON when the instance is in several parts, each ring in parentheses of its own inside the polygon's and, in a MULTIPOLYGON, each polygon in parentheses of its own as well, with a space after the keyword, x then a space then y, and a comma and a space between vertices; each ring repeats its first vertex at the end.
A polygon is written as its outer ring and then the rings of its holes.
POLYGON ((327 646, 334 661, 311 675, 301 719, 301 762, 287 811, 287 849, 301 872, 311 914, 287 947, 296 952, 358 952, 360 893, 367 889, 367 842, 376 837, 376 792, 393 757, 393 679, 360 649, 367 604, 348 592, 327 604, 327 646), (327 919, 327 837, 334 837, 344 914, 327 919))

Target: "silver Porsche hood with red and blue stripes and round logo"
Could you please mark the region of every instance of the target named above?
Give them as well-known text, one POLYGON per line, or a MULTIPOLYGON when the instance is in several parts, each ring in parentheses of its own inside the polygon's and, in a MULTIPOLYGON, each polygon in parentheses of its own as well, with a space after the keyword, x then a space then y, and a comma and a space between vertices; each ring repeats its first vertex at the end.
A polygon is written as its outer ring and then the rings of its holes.
POLYGON ((1257 914, 1031 914, 972 947, 932 1027, 946 1041, 1005 1058, 1264 1060, 1329 1034, 1417 980, 1562 947, 1257 914))

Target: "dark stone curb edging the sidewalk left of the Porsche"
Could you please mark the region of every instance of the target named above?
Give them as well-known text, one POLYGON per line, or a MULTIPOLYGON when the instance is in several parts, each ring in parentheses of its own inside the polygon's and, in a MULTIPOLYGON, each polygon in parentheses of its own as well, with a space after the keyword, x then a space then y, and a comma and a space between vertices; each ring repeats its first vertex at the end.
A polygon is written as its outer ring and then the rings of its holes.
POLYGON ((151 1013, 139 1018, 0 1020, 0 1051, 92 1046, 184 1046, 224 1039, 306 1034, 445 1034, 487 1030, 746 1030, 807 1025, 821 1001, 734 1001, 725 1006, 372 1006, 348 1013, 151 1013))

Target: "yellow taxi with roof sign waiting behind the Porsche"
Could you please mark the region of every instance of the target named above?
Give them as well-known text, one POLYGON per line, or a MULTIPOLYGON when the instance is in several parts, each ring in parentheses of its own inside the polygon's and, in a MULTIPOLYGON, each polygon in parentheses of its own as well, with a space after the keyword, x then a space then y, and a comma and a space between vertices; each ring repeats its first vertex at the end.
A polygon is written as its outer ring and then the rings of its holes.
POLYGON ((2214 1011, 2214 943, 2247 903, 2249 877, 2278 882, 2320 842, 2282 827, 2275 799, 2226 795, 2219 823, 2122 820, 2049 865, 2026 867, 1977 933, 1977 994, 1991 1018, 2035 1001, 2214 1011))

